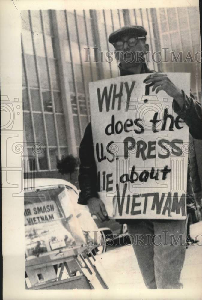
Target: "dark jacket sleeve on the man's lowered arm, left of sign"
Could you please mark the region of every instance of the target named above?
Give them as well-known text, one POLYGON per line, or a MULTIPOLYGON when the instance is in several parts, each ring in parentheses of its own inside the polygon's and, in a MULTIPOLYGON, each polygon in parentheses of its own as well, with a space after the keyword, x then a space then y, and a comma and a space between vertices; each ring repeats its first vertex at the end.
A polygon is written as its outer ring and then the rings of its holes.
POLYGON ((91 123, 85 129, 84 137, 79 147, 79 204, 87 204, 91 197, 97 194, 97 169, 94 158, 93 137, 91 123))

